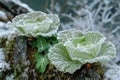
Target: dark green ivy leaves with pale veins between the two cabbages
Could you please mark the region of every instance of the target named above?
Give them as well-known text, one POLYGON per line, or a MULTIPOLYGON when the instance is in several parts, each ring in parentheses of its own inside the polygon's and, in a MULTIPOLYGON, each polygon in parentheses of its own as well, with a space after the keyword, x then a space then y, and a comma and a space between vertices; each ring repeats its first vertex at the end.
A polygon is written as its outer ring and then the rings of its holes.
POLYGON ((48 49, 56 44, 58 41, 55 36, 52 37, 38 37, 36 41, 33 42, 32 47, 37 49, 35 54, 36 69, 40 73, 44 73, 47 65, 49 64, 48 59, 48 49))

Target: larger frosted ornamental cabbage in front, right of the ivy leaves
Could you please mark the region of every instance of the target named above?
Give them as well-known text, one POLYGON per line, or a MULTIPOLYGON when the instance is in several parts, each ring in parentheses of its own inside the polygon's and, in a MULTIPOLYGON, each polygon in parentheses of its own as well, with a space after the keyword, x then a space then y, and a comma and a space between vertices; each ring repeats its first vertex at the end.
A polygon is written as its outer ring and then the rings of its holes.
POLYGON ((99 32, 70 29, 58 33, 59 43, 50 48, 50 62, 60 71, 74 73, 86 63, 106 63, 116 54, 116 48, 99 32))

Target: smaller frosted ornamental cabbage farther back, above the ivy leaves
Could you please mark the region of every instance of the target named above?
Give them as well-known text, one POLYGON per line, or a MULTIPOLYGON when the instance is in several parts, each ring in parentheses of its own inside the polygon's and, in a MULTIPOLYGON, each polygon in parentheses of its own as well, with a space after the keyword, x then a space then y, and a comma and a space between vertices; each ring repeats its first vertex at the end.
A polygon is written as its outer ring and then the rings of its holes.
POLYGON ((46 14, 41 11, 21 14, 8 22, 6 27, 15 30, 18 36, 36 37, 52 36, 60 25, 56 14, 46 14))

